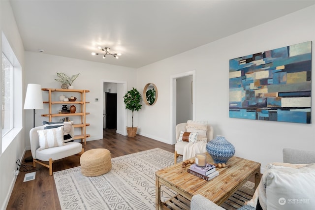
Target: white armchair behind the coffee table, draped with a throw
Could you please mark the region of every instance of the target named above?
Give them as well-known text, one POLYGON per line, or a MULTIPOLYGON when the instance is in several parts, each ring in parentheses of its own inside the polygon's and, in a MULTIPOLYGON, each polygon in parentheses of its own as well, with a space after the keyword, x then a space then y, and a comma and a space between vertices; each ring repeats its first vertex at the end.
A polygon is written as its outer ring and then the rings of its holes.
MULTIPOLYGON (((189 121, 191 121, 191 120, 189 120, 189 121)), ((177 162, 177 157, 179 155, 183 156, 184 149, 189 144, 189 142, 178 141, 181 131, 187 131, 187 129, 186 129, 187 125, 188 125, 187 122, 179 123, 176 125, 176 129, 175 129, 175 131, 176 131, 176 144, 175 144, 175 151, 174 151, 174 163, 175 164, 177 162)), ((209 142, 210 140, 213 139, 213 127, 210 124, 207 124, 206 136, 207 136, 207 142, 209 142)), ((203 152, 206 152, 206 143, 202 147, 204 147, 203 152)), ((187 157, 186 159, 188 159, 188 158, 190 158, 190 157, 187 157)))

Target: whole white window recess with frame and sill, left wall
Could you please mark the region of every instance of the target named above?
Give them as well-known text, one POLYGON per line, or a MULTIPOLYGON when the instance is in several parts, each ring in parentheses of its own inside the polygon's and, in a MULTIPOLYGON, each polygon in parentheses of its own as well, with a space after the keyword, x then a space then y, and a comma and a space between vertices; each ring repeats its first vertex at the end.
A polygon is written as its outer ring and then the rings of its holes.
POLYGON ((3 32, 1 32, 1 52, 0 153, 3 153, 22 130, 23 99, 22 67, 3 32))

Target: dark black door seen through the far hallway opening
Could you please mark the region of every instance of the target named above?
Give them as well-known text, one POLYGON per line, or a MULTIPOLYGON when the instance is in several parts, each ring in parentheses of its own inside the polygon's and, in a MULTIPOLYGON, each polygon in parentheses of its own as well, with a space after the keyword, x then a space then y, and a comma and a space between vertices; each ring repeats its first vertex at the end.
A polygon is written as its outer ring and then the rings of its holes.
POLYGON ((117 93, 106 92, 106 128, 116 129, 117 124, 117 93))

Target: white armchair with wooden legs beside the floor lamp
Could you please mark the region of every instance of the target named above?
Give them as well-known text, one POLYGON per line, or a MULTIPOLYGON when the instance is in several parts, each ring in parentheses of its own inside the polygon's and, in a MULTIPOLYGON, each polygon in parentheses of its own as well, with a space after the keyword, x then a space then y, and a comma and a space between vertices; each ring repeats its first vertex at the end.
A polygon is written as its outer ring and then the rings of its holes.
MULTIPOLYGON (((73 126, 72 126, 73 129, 73 126)), ((31 152, 33 157, 33 167, 36 167, 36 163, 39 163, 49 168, 49 176, 53 175, 53 162, 71 155, 82 154, 84 149, 82 144, 78 142, 67 142, 60 147, 51 147, 44 150, 39 146, 38 130, 44 130, 44 126, 34 127, 30 131, 31 152), (42 161, 48 161, 46 164, 42 161)))

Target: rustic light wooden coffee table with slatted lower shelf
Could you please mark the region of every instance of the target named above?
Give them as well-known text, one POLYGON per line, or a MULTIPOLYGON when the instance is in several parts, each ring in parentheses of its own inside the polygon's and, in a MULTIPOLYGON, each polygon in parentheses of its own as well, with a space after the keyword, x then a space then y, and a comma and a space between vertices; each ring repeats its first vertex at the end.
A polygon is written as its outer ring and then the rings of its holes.
MULTIPOLYGON (((211 156, 207 152, 206 154, 207 163, 214 163, 211 156)), ((210 181, 189 174, 187 169, 190 164, 186 169, 182 168, 182 163, 177 163, 158 170, 156 172, 156 209, 165 207, 160 199, 161 185, 176 191, 180 199, 187 199, 190 202, 193 195, 200 194, 219 206, 252 176, 255 176, 254 189, 256 189, 260 181, 260 163, 233 156, 226 164, 225 168, 217 168, 220 172, 219 176, 210 181)))

